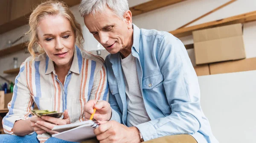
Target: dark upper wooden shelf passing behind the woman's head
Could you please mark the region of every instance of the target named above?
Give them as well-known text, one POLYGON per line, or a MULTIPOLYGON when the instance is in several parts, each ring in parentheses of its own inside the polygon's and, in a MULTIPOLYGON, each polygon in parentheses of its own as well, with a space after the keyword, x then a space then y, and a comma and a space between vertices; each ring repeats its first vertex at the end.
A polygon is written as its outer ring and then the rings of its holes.
MULTIPOLYGON (((67 3, 68 6, 75 6, 80 3, 80 0, 61 0, 65 3, 67 3)), ((41 2, 41 0, 39 0, 41 2)), ((15 20, 9 21, 7 23, 4 23, 0 25, 0 34, 3 34, 7 31, 10 31, 12 29, 18 28, 22 25, 26 25, 29 22, 29 16, 32 13, 32 11, 28 14, 24 14, 22 17, 19 17, 15 20)))

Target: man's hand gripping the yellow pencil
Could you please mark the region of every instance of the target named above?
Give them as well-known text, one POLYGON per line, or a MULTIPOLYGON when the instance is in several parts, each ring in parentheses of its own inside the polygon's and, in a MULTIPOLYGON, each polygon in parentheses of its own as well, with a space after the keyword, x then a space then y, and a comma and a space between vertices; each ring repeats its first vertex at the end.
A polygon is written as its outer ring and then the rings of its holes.
POLYGON ((84 105, 84 117, 85 120, 89 120, 93 114, 93 108, 96 112, 93 118, 96 121, 109 121, 111 119, 112 109, 107 101, 90 100, 84 105))

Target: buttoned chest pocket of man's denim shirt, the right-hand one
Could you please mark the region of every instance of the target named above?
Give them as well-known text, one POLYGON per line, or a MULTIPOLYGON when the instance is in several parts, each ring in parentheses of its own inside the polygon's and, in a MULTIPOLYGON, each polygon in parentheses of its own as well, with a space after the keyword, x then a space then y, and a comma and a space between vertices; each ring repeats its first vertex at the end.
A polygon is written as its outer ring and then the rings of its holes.
POLYGON ((153 89, 159 84, 163 84, 163 75, 162 73, 153 74, 142 79, 142 88, 143 89, 153 89))

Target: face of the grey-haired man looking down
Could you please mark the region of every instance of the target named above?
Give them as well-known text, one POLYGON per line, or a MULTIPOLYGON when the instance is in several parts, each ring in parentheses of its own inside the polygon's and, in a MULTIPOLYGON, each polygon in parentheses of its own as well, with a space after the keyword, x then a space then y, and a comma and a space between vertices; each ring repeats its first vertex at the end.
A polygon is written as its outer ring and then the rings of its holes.
POLYGON ((104 13, 87 15, 84 24, 94 38, 111 54, 132 45, 132 24, 126 16, 120 19, 110 8, 104 13))

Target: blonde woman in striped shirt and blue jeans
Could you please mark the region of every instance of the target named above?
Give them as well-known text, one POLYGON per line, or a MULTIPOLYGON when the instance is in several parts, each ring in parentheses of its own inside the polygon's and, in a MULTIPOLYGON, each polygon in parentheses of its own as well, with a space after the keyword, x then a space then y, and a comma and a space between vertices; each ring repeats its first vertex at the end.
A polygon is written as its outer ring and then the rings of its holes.
POLYGON ((63 142, 51 137, 55 125, 84 121, 89 99, 108 101, 103 59, 81 50, 81 26, 62 2, 41 3, 29 17, 28 50, 20 66, 9 112, 3 118, 1 143, 63 142), (35 48, 40 55, 35 55, 35 48), (35 106, 64 112, 64 118, 32 116, 35 106), (16 136, 15 136, 16 135, 16 136))

